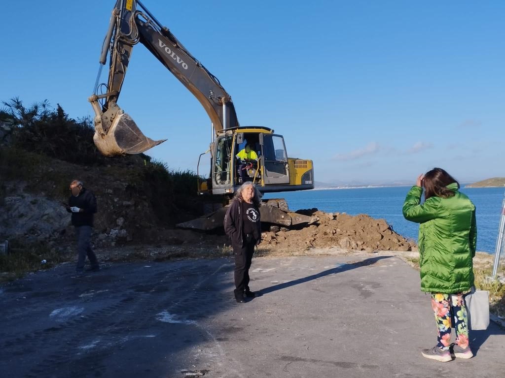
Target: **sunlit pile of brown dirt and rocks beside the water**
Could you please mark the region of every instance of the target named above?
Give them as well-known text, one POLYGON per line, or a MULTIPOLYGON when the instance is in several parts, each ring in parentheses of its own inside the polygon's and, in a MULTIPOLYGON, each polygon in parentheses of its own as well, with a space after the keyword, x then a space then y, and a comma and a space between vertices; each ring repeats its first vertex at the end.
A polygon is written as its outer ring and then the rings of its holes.
POLYGON ((301 229, 279 229, 263 234, 267 248, 311 249, 337 246, 347 250, 398 250, 417 248, 413 240, 397 234, 384 219, 366 214, 324 213, 317 209, 298 213, 319 217, 319 222, 301 229))

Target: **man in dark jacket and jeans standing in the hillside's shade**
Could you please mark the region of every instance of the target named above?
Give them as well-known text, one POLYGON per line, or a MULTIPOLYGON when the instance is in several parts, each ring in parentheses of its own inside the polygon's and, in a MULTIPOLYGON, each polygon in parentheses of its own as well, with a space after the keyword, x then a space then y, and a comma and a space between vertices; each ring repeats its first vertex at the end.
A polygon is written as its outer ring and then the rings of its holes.
POLYGON ((100 266, 98 260, 91 248, 91 231, 93 227, 93 214, 96 213, 96 198, 91 191, 86 190, 82 182, 73 180, 70 183, 70 192, 72 195, 68 200, 67 211, 72 213, 72 225, 75 227, 77 236, 77 273, 84 270, 84 261, 88 256, 90 268, 89 271, 98 271, 100 266))

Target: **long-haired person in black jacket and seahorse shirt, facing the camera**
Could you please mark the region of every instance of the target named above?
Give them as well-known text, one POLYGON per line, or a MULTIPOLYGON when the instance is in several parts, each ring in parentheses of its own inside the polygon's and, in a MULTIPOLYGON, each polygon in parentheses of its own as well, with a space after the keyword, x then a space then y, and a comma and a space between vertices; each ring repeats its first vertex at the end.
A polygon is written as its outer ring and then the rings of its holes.
POLYGON ((224 231, 231 239, 235 255, 235 300, 244 303, 256 293, 249 289, 249 268, 255 245, 261 241, 261 195, 254 183, 247 181, 238 188, 224 217, 224 231))

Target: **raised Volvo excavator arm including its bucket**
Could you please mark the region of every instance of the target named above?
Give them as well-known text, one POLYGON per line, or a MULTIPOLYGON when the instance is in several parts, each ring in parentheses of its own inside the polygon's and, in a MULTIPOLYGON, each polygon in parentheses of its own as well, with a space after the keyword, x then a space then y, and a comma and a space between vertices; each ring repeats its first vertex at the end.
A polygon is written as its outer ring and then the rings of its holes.
POLYGON ((164 142, 145 137, 133 119, 117 104, 133 46, 138 42, 198 99, 216 131, 239 126, 231 97, 219 80, 139 1, 117 0, 100 55, 101 68, 106 64, 110 49, 106 93, 97 93, 97 79, 94 93, 89 98, 95 112, 93 140, 100 152, 107 156, 138 154, 164 142))

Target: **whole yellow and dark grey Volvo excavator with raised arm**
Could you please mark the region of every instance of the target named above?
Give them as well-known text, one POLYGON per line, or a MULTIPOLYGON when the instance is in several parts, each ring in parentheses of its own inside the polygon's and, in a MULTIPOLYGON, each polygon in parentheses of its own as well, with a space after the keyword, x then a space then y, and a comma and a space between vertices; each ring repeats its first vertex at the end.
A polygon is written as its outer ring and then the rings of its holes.
MULTIPOLYGON (((198 194, 223 196, 226 206, 243 181, 253 181, 261 194, 314 188, 312 160, 288 158, 284 138, 272 129, 240 126, 231 96, 219 80, 138 0, 117 0, 102 46, 93 94, 88 99, 95 114, 93 141, 102 154, 139 154, 165 141, 145 137, 118 105, 133 46, 139 42, 196 97, 211 120, 213 137, 207 151, 211 159, 210 177, 198 180, 198 194), (109 52, 108 82, 99 84, 109 52), (236 158, 245 145, 256 156, 246 164, 236 158)), ((198 177, 200 159, 205 154, 198 158, 198 177)), ((223 224, 225 212, 226 207, 220 207, 178 226, 218 228, 223 224)), ((260 213, 262 223, 284 227, 318 220, 290 211, 283 199, 263 201, 260 213)))

